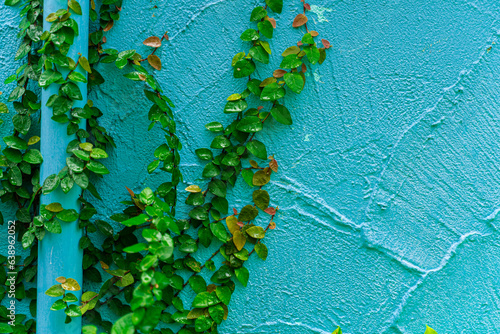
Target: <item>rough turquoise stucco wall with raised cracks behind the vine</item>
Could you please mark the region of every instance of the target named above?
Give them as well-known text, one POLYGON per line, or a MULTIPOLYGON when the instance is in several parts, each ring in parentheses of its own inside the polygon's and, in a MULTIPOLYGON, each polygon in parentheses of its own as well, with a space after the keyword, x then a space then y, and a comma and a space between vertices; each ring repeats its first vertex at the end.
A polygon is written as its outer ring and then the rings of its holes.
MULTIPOLYGON (((130 49, 169 31, 158 76, 177 106, 186 183, 201 182, 194 150, 211 138, 203 125, 228 121, 225 98, 244 85, 230 59, 248 47, 238 36, 257 3, 126 0, 108 34, 109 46, 130 49)), ((278 17, 274 66, 299 36, 288 23, 300 5, 286 1, 278 17)), ((333 47, 300 98, 287 97, 294 125, 258 134, 280 162, 269 189, 282 210, 268 260, 250 261, 250 284, 237 289, 220 332, 500 332, 500 4, 313 5, 314 27, 333 47)), ((0 82, 15 69, 16 25, 0 5, 0 82)), ((109 203, 126 197, 123 185, 138 191, 163 177, 145 170, 161 141, 146 131, 148 104, 108 68, 90 95, 118 143, 99 184, 103 216, 120 210, 109 203)), ((0 91, 3 101, 10 88, 0 91)), ((234 197, 249 198, 246 189, 234 197)))

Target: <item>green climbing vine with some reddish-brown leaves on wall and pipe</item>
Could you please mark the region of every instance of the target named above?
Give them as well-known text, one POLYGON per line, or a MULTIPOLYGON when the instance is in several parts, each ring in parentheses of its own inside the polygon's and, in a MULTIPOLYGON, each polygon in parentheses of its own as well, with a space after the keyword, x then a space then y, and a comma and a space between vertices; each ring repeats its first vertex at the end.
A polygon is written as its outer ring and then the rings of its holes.
MULTIPOLYGON (((13 134, 3 138, 7 147, 0 156, 0 198, 16 207, 15 231, 30 252, 24 260, 14 257, 9 269, 17 272, 15 298, 32 301, 30 318, 17 315, 15 326, 1 324, 4 327, 0 332, 35 332, 32 318, 36 317, 36 292, 24 286, 30 286, 36 276, 37 243, 46 233, 60 233, 61 224, 78 221, 84 231, 79 243, 84 250, 84 281, 104 283, 99 291, 85 291, 78 300, 73 292, 85 288, 80 285, 83 282, 54 277, 54 285, 46 294, 54 299, 52 310, 66 313, 66 322, 84 316, 85 322, 91 324, 83 329, 87 334, 97 333, 98 327, 116 334, 217 333, 228 317, 232 293, 238 284, 246 286, 249 281, 246 262, 254 253, 262 260, 267 258, 263 240, 276 227, 279 209, 266 187, 273 173, 278 172, 278 161, 267 151, 260 133, 275 122, 292 124, 284 98, 301 93, 308 67, 323 63, 330 47, 325 39, 319 44, 318 32, 308 28, 309 5, 302 4, 303 13, 292 23, 293 28, 303 31, 301 40, 282 52, 280 68, 269 71, 270 76, 263 79, 254 72, 257 66, 269 64, 272 51, 268 40, 273 38, 277 25, 272 13, 281 13, 283 1, 266 0, 253 9, 251 27, 240 36, 248 48, 231 62, 233 76, 246 80, 246 88, 230 95, 223 110, 224 114, 233 114, 234 120, 227 125, 217 120, 206 124, 213 139, 209 147, 195 153, 206 162, 202 177, 207 182, 179 189, 183 182, 179 167, 182 144, 176 134, 174 104, 164 95, 152 71, 162 69, 155 53, 168 41, 168 35, 147 38, 144 45, 151 52, 145 57, 136 50, 106 48, 105 33, 120 18, 121 0, 103 0, 98 9, 92 0, 90 18, 98 22, 98 28, 90 34, 88 58, 80 54, 72 59, 68 54, 79 34, 72 16, 82 14, 76 0, 69 0, 66 8, 47 15, 51 23, 47 31, 42 28, 39 0, 5 3, 21 8, 19 37, 23 41, 15 59, 25 62, 6 80, 16 83, 8 98, 16 114, 12 118, 13 134), (109 222, 95 219, 97 210, 92 204, 101 200, 94 183, 109 173, 102 159, 108 157, 115 143, 99 125, 103 112, 91 100, 83 100, 80 84, 88 83, 92 89, 104 83, 98 71, 102 64, 114 64, 125 71, 126 78, 144 87, 150 103, 148 129, 159 127, 158 131, 165 135, 147 171, 159 169, 168 175, 167 180, 139 193, 127 188, 129 199, 122 202, 126 207, 110 217, 123 226, 119 231, 109 222), (58 87, 46 103, 52 110, 51 119, 65 124, 67 135, 74 136, 74 140, 66 149, 66 166, 40 180, 43 157, 37 145, 43 138, 27 136, 34 132, 32 122, 42 107, 38 89, 48 87, 58 87), (259 103, 251 106, 250 101, 259 103), (244 206, 229 203, 226 198, 240 176, 243 185, 252 189, 244 206), (60 203, 41 204, 42 196, 58 188, 68 193, 74 187, 82 192, 80 210, 64 208, 60 203), (178 218, 176 212, 180 191, 189 193, 186 204, 192 207, 185 219, 178 218), (105 237, 102 245, 93 243, 92 233, 105 237), (213 249, 212 255, 202 258, 200 247, 213 249), (117 317, 114 323, 102 319, 106 307, 117 317)), ((8 112, 6 104, 0 103, 0 112, 8 112)), ((0 221, 3 223, 1 213, 0 221)), ((0 263, 10 265, 8 261, 8 257, 0 257, 0 263)), ((0 280, 7 280, 3 267, 0 280)), ((7 320, 8 314, 6 307, 0 307, 2 320, 7 320)), ((340 328, 334 333, 340 334, 340 328)))

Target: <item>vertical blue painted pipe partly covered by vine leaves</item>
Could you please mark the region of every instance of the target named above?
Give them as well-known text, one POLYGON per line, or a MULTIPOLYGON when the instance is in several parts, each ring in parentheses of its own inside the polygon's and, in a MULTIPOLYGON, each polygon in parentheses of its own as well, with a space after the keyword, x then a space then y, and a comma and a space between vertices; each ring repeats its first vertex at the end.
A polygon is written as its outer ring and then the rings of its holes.
MULTIPOLYGON (((78 53, 88 58, 88 39, 89 39, 89 0, 79 0, 82 7, 82 15, 71 15, 78 23, 79 35, 75 36, 68 56, 75 61, 78 59, 78 53)), ((50 29, 50 22, 45 18, 61 8, 67 8, 67 0, 45 0, 43 5, 43 28, 50 29)), ((77 71, 85 74, 79 67, 77 71)), ((61 71, 63 75, 66 72, 61 71)), ((83 95, 82 101, 75 101, 74 107, 83 107, 87 101, 87 84, 79 83, 78 86, 83 95)), ((41 144, 40 151, 44 158, 40 171, 40 183, 47 176, 57 174, 65 165, 66 147, 68 143, 75 139, 75 136, 66 134, 66 124, 60 124, 51 119, 52 109, 46 107, 47 100, 53 94, 57 94, 59 85, 52 84, 47 89, 42 90, 42 117, 41 117, 41 144)), ((81 127, 85 124, 82 121, 81 127)), ((81 189, 76 184, 73 189, 64 194, 60 188, 50 194, 41 197, 41 204, 50 204, 59 202, 65 209, 76 209, 79 211, 80 205, 78 197, 81 189)), ((45 291, 52 285, 57 284, 56 278, 65 276, 74 278, 82 285, 82 259, 83 251, 79 248, 78 242, 82 236, 81 229, 77 222, 61 222, 62 233, 47 233, 38 244, 38 277, 37 277, 37 333, 39 334, 81 334, 81 318, 73 318, 70 324, 65 324, 66 314, 64 310, 51 311, 50 307, 57 298, 45 295, 45 291)), ((81 291, 74 293, 78 298, 81 291)))

